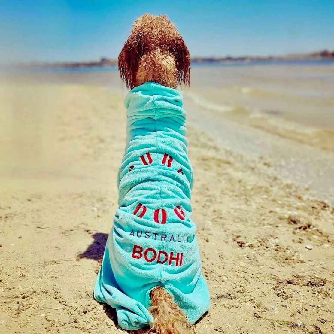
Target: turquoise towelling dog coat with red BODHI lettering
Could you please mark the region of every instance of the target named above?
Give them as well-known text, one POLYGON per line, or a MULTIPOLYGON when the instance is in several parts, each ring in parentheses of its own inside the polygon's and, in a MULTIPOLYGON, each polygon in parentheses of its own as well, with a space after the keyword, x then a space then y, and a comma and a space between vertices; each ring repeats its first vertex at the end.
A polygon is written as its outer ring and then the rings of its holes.
POLYGON ((150 292, 157 286, 174 297, 191 323, 210 304, 190 219, 193 174, 182 104, 180 92, 154 82, 134 88, 125 99, 119 208, 94 297, 116 308, 126 330, 152 323, 150 292))

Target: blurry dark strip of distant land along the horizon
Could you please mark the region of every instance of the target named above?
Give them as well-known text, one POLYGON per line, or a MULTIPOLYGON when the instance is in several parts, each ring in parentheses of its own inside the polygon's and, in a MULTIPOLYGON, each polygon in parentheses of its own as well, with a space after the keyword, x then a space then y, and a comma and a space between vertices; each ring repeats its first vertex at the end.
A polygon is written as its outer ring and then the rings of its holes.
MULTIPOLYGON (((285 56, 225 56, 225 57, 193 57, 194 64, 211 63, 247 63, 259 61, 289 61, 289 60, 321 60, 334 59, 334 50, 323 50, 308 54, 292 54, 285 56)), ((16 68, 89 68, 89 67, 110 67, 117 66, 116 59, 101 58, 97 61, 88 62, 32 62, 12 64, 10 67, 16 68)))

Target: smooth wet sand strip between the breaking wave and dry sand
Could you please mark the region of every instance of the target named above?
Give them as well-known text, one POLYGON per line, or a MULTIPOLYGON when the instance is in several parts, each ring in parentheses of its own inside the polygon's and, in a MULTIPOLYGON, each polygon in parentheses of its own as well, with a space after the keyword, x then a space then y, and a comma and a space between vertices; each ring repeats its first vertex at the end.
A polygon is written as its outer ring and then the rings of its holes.
POLYGON ((203 113, 202 108, 188 99, 186 101, 191 109, 187 115, 188 124, 213 137, 213 143, 220 149, 240 154, 250 164, 258 165, 260 162, 261 168, 269 175, 334 205, 332 151, 322 151, 305 141, 243 124, 214 112, 203 113))

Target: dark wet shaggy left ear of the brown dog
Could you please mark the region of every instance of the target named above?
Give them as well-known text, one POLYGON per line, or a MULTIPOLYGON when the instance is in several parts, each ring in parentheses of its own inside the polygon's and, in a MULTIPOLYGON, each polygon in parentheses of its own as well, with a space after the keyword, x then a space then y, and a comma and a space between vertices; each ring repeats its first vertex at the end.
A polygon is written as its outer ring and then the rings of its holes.
POLYGON ((140 57, 143 55, 143 47, 140 36, 130 35, 118 56, 118 70, 126 87, 133 89, 136 84, 136 73, 140 57))

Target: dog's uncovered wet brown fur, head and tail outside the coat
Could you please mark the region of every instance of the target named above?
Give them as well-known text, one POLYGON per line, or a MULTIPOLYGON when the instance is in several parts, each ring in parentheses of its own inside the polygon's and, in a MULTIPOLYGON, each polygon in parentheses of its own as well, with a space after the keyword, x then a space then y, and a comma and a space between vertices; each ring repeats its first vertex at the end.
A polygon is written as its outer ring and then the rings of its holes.
MULTIPOLYGON (((181 35, 166 16, 145 14, 134 23, 119 57, 121 78, 133 89, 145 82, 176 88, 189 85, 190 55, 181 35)), ((194 333, 183 311, 161 287, 151 292, 149 309, 154 321, 150 332, 194 333)))

